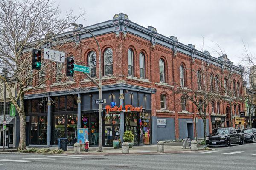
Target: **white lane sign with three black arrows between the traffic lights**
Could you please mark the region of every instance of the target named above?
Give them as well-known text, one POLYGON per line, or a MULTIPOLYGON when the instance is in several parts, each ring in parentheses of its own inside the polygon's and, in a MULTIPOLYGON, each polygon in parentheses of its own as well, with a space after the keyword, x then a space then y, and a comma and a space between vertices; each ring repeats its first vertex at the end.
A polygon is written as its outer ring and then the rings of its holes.
POLYGON ((66 53, 63 51, 56 51, 49 48, 44 48, 44 59, 55 62, 65 62, 66 53))

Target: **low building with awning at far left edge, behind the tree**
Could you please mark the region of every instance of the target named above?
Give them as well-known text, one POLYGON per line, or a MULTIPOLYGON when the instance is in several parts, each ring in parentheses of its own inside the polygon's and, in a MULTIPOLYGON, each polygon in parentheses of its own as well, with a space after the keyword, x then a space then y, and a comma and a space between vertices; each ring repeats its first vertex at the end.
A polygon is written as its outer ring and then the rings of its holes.
MULTIPOLYGON (((10 81, 10 87, 12 95, 15 96, 17 83, 12 81, 12 77, 8 77, 7 81, 10 81)), ((3 139, 6 140, 5 148, 13 147, 15 148, 19 141, 20 126, 18 116, 11 116, 11 100, 9 93, 6 90, 6 136, 3 136, 3 82, 0 81, 0 148, 3 148, 3 139)), ((16 110, 15 110, 16 113, 16 110)))

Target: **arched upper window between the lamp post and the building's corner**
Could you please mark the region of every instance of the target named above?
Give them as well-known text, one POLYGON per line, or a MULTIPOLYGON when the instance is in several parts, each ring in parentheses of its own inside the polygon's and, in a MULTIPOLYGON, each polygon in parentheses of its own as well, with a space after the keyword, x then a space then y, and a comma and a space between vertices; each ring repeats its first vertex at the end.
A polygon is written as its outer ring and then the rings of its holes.
POLYGON ((113 74, 113 51, 107 48, 104 51, 104 75, 113 74))

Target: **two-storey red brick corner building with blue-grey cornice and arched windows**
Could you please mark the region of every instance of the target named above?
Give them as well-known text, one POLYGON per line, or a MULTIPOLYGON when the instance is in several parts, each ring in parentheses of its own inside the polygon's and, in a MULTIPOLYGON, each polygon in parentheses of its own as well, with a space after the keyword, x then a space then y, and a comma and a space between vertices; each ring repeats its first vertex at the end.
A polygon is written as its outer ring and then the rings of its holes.
MULTIPOLYGON (((102 118, 104 146, 111 146, 113 139, 122 139, 125 130, 134 133, 135 145, 186 137, 194 139, 195 117, 198 117, 198 138, 202 138, 203 121, 195 106, 180 94, 173 93, 177 83, 187 89, 198 88, 191 69, 199 70, 202 61, 207 65, 206 71, 220 82, 226 79, 226 68, 232 67, 238 95, 243 94, 240 83, 243 69, 234 66, 226 55, 215 58, 208 51, 202 53, 192 44, 178 42, 174 36, 157 33, 152 26, 144 28, 133 23, 122 13, 114 15, 113 20, 86 28, 96 36, 102 51, 102 99, 106 99, 106 104, 102 105, 105 111, 102 118), (116 102, 117 108, 109 110, 111 102, 116 102)), ((66 34, 72 36, 73 32, 66 34)), ((75 43, 76 47, 65 46, 62 50, 75 57, 75 61, 88 65, 90 75, 97 80, 99 54, 96 42, 81 31, 75 43)), ((45 47, 50 48, 50 45, 45 47)), ((97 145, 98 105, 94 100, 98 99, 98 89, 81 73, 76 72, 74 79, 76 81, 70 81, 72 91, 60 91, 61 82, 65 80, 58 79, 57 72, 56 79, 26 93, 27 144, 57 145, 58 138, 66 137, 68 144, 73 145, 77 142, 77 128, 87 127, 90 144, 97 145)), ((222 101, 212 101, 207 108, 207 133, 212 128, 230 126, 230 109, 238 115, 238 107, 244 110, 243 103, 230 108, 222 101)), ((235 121, 233 127, 234 124, 235 121)))

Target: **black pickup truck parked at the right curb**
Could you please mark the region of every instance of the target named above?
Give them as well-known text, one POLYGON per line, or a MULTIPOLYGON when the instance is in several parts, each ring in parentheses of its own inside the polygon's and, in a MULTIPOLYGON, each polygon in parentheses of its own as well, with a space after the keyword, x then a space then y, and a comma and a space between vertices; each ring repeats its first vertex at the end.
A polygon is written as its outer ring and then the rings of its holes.
POLYGON ((231 144, 244 144, 244 133, 237 133, 233 127, 213 129, 212 134, 206 137, 206 145, 230 147, 231 144))

